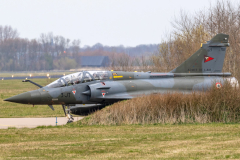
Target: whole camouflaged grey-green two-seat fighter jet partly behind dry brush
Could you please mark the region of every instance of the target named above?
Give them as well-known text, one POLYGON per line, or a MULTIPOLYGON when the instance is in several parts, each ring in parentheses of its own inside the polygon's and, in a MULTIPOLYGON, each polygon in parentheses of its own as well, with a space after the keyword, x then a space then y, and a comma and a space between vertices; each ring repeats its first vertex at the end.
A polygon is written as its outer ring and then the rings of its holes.
POLYGON ((226 80, 238 85, 231 73, 222 73, 228 38, 226 34, 217 34, 168 73, 82 71, 63 76, 44 87, 28 80, 40 89, 5 101, 48 105, 52 110, 52 105, 62 105, 71 122, 70 106, 76 104, 108 105, 152 93, 206 91, 213 83, 220 88, 226 80))

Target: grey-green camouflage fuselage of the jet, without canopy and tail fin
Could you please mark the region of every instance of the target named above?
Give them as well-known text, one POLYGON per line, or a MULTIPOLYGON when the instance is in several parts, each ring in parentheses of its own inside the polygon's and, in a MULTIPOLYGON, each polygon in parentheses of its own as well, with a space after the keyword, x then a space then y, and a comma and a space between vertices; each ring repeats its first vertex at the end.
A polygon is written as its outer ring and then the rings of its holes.
MULTIPOLYGON (((230 73, 174 74, 108 71, 108 80, 95 80, 75 85, 49 88, 17 95, 25 104, 111 104, 138 96, 167 93, 206 91, 216 83, 223 85, 230 73)), ((15 97, 15 96, 14 96, 15 97)), ((14 97, 11 97, 14 99, 14 97)), ((16 97, 15 97, 16 98, 16 97)))

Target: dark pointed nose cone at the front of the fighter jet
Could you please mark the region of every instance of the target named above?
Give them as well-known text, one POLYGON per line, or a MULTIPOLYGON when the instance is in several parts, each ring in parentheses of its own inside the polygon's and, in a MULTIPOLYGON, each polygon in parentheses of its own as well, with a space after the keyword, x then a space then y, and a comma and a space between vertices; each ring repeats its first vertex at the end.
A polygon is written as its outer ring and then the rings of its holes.
POLYGON ((28 104, 30 99, 31 99, 31 94, 29 92, 25 92, 25 93, 21 93, 19 95, 4 99, 4 101, 28 104))

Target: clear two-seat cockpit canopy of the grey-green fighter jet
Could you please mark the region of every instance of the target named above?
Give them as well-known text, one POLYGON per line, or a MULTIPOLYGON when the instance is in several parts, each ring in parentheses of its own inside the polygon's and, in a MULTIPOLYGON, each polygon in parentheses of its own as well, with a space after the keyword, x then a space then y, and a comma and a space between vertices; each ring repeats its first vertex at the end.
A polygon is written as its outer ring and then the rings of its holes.
POLYGON ((78 83, 85 83, 95 80, 105 80, 108 79, 107 71, 82 71, 73 74, 63 76, 56 81, 47 85, 50 88, 65 87, 69 85, 74 85, 78 83))

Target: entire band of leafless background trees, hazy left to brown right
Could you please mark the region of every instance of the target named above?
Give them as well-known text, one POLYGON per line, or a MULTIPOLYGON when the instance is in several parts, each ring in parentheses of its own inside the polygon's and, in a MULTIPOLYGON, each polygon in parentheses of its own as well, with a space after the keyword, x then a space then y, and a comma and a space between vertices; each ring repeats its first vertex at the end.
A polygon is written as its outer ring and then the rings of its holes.
POLYGON ((169 72, 179 66, 218 33, 229 35, 223 71, 240 78, 240 4, 215 1, 208 8, 189 14, 180 11, 171 22, 174 30, 161 43, 136 47, 103 46, 97 43, 80 48, 53 33, 38 39, 23 39, 11 26, 0 26, 0 71, 71 69, 80 67, 80 56, 104 55, 111 60, 110 70, 169 72))

